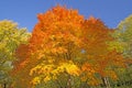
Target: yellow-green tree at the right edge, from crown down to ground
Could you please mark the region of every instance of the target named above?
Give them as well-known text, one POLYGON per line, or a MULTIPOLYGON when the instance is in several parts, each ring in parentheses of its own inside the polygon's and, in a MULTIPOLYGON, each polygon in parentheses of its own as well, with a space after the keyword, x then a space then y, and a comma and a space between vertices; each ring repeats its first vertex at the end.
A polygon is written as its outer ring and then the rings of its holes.
POLYGON ((119 23, 118 29, 113 35, 122 47, 123 56, 129 61, 129 63, 125 63, 128 66, 127 69, 119 69, 119 85, 123 84, 130 86, 132 81, 132 15, 129 15, 119 23))

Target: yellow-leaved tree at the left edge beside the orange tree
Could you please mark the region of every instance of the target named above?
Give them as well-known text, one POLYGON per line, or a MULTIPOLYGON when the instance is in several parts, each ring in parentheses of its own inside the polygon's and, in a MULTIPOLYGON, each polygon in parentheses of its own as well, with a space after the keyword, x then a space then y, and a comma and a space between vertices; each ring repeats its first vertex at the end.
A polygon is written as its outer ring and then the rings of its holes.
POLYGON ((14 53, 21 43, 26 43, 29 33, 20 29, 16 23, 0 21, 0 85, 7 88, 11 82, 9 72, 13 68, 12 62, 16 61, 14 53))

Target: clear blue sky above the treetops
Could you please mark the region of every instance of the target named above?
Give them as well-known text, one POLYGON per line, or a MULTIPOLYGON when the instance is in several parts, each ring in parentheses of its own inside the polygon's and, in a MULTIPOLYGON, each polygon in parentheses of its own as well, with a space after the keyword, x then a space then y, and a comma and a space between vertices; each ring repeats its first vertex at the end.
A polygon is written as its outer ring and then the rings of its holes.
POLYGON ((37 13, 44 13, 57 3, 78 9, 85 18, 99 18, 109 28, 116 28, 132 14, 132 0, 0 0, 0 20, 12 20, 31 32, 37 13))

